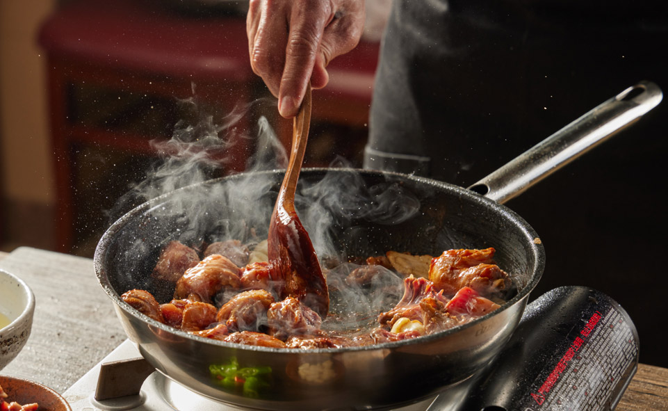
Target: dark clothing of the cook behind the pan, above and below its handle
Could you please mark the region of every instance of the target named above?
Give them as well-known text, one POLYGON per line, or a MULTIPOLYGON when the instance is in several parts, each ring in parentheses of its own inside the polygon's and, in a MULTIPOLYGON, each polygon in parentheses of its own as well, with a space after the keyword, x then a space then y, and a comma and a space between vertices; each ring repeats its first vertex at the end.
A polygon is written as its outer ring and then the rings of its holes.
MULTIPOLYGON (((667 8, 396 0, 365 166, 469 186, 640 80, 668 90, 667 8)), ((663 102, 507 204, 546 248, 535 296, 565 284, 608 293, 639 328, 641 360, 662 366, 647 314, 665 315, 668 291, 667 134, 663 102)))

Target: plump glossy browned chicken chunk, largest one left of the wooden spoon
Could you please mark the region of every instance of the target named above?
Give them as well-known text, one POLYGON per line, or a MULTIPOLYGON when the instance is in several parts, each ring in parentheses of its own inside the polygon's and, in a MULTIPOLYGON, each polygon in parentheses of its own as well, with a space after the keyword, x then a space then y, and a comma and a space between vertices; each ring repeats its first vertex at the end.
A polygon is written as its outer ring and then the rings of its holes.
POLYGON ((225 288, 239 289, 239 268, 227 257, 210 255, 188 269, 177 281, 174 298, 188 298, 211 303, 213 296, 225 288))

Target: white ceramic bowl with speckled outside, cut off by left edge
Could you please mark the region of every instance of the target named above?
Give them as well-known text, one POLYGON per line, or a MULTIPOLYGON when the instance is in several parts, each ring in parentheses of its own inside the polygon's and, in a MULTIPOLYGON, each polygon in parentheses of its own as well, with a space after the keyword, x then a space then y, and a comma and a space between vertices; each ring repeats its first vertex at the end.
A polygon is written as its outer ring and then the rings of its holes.
POLYGON ((0 270, 0 313, 9 319, 0 328, 0 370, 26 345, 34 312, 33 291, 20 278, 0 270))

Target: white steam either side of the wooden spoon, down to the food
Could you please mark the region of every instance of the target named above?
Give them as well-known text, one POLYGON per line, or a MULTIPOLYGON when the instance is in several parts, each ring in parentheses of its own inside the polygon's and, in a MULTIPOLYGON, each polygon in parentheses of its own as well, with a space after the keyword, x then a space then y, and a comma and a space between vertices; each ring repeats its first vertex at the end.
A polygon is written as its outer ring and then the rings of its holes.
MULTIPOLYGON (((152 270, 159 252, 156 248, 168 241, 201 248, 213 241, 236 239, 253 248, 266 240, 280 184, 272 170, 284 169, 288 158, 265 117, 258 116, 252 136, 245 134, 250 131, 239 127, 239 122, 267 102, 264 99, 238 106, 220 124, 215 123, 213 115, 200 112, 194 97, 180 102, 196 114, 195 120, 179 121, 170 140, 154 142, 158 161, 109 213, 113 221, 131 207, 152 200, 145 211, 146 220, 118 234, 116 240, 122 243, 118 247, 125 257, 118 262, 118 269, 127 273, 132 288, 146 284, 145 273, 152 270), (232 161, 238 161, 229 152, 239 140, 254 147, 245 172, 212 181, 212 177, 225 175, 232 161), (166 193, 170 194, 164 200, 160 198, 166 193), (138 264, 139 260, 145 261, 143 265, 138 264)), ((350 168, 350 163, 337 159, 331 168, 350 168)), ((341 227, 353 227, 344 235, 354 237, 356 221, 386 226, 403 223, 420 210, 415 195, 391 181, 370 184, 357 172, 326 172, 318 181, 300 179, 295 208, 321 264, 330 257, 336 261, 327 266, 331 268, 328 282, 336 289, 339 303, 334 305, 339 307, 338 318, 345 320, 341 326, 373 322, 382 307, 393 305, 388 304, 388 298, 396 303, 402 293, 402 278, 389 270, 365 287, 345 282, 357 265, 348 262, 341 250, 341 227)), ((370 257, 364 254, 368 250, 359 252, 359 257, 370 257)))

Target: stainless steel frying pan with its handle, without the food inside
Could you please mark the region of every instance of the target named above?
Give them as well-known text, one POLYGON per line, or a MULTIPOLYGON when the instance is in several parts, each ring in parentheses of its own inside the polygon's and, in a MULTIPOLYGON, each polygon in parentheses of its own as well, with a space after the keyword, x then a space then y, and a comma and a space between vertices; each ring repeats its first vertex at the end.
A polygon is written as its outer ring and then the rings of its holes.
POLYGON ((510 273, 516 294, 500 309, 457 328, 373 346, 275 349, 189 335, 124 303, 120 294, 134 288, 152 291, 158 300, 170 298, 171 291, 149 275, 168 241, 266 236, 283 170, 214 179, 140 205, 102 236, 95 271, 142 356, 199 394, 262 410, 368 410, 419 401, 466 380, 500 352, 541 277, 545 255, 539 236, 500 203, 637 120, 661 99, 655 84, 638 83, 470 190, 392 172, 302 170, 302 200, 296 208, 319 255, 345 259, 387 250, 440 255, 450 248, 496 248, 495 259, 510 273), (324 211, 325 223, 312 218, 313 209, 324 211), (320 238, 329 239, 327 245, 320 238), (255 380, 259 389, 225 385, 211 373, 230 364, 262 370, 255 380))

